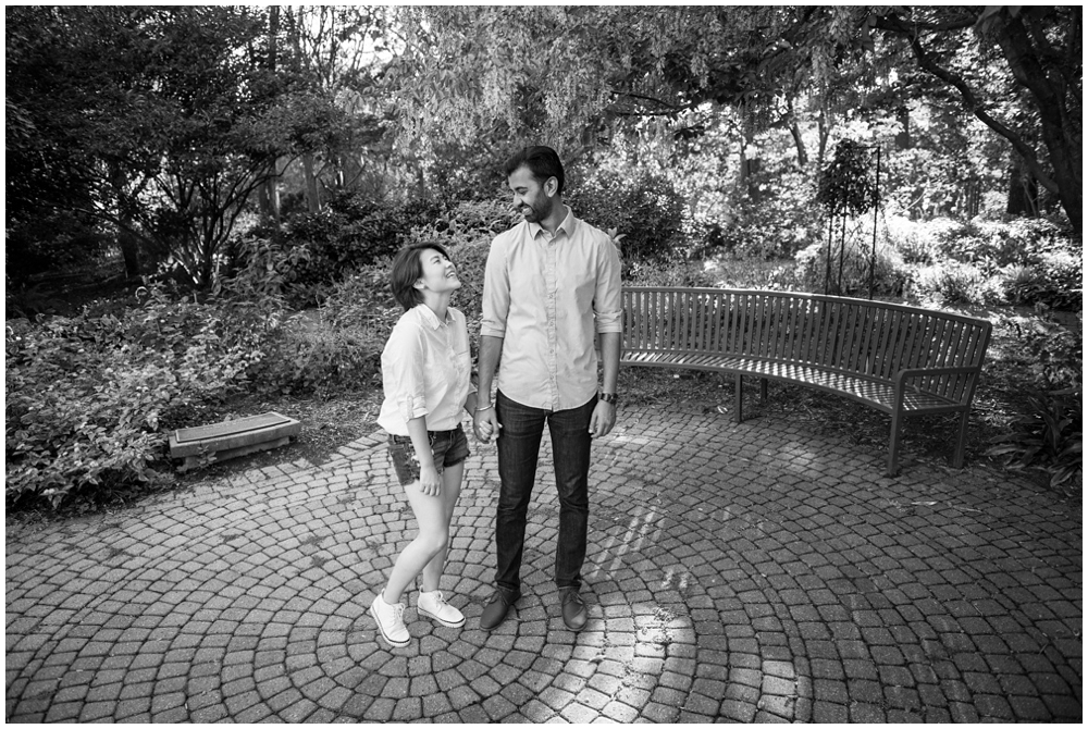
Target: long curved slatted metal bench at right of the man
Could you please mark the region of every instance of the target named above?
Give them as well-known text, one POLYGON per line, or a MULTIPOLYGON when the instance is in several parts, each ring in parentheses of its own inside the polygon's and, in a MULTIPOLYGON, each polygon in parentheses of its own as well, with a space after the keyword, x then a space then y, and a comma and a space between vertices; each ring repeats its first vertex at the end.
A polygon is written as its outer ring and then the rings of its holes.
POLYGON ((970 400, 990 322, 883 301, 728 288, 623 288, 623 364, 795 382, 891 416, 888 475, 903 419, 960 412, 952 464, 963 466, 970 400))

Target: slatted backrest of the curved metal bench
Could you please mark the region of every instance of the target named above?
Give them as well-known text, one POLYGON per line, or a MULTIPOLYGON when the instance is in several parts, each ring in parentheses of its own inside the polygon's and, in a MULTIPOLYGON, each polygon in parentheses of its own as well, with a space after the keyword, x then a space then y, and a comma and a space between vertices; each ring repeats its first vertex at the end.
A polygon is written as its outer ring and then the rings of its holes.
MULTIPOLYGON (((879 381, 907 368, 981 368, 990 323, 883 301, 727 288, 625 287, 625 351, 685 351, 813 364, 879 381)), ((969 396, 969 375, 920 390, 969 396)))

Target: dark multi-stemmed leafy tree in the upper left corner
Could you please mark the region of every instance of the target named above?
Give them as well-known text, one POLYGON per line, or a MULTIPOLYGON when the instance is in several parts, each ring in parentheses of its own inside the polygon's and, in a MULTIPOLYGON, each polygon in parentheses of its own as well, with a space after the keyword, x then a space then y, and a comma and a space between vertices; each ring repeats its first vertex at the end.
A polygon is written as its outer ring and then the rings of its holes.
POLYGON ((18 41, 9 39, 9 108, 26 132, 15 153, 46 171, 9 169, 9 189, 38 190, 20 197, 33 209, 79 203, 199 285, 273 161, 343 119, 270 71, 264 16, 247 9, 9 8, 7 17, 18 41), (85 199, 52 194, 58 170, 85 199))

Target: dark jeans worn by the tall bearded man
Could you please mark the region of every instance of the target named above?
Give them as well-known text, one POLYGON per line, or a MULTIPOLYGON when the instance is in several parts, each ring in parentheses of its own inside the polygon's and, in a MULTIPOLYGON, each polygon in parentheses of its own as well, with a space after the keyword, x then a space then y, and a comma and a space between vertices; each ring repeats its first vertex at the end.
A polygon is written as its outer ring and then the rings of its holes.
POLYGON ((526 518, 536 481, 544 423, 552 433, 555 484, 559 492, 559 539, 555 551, 556 586, 579 588, 585 560, 590 519, 590 418, 597 397, 569 410, 541 410, 515 403, 502 392, 495 400, 498 422, 498 547, 495 582, 508 597, 521 592, 521 557, 526 547, 526 518))

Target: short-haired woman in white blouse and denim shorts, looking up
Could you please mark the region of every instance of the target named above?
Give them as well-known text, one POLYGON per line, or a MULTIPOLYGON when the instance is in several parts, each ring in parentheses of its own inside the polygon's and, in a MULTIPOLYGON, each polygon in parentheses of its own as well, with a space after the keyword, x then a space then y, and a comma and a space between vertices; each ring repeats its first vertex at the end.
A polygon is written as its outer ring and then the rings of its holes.
POLYGON ((390 279, 405 313, 382 351, 385 400, 378 422, 390 433, 390 455, 419 534, 397 557, 370 615, 390 645, 404 647, 411 635, 400 597, 420 574, 419 614, 449 628, 465 625, 438 580, 469 456, 460 410, 472 413, 477 394, 465 314, 449 306, 461 282, 446 250, 433 243, 408 246, 394 259, 390 279))

